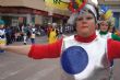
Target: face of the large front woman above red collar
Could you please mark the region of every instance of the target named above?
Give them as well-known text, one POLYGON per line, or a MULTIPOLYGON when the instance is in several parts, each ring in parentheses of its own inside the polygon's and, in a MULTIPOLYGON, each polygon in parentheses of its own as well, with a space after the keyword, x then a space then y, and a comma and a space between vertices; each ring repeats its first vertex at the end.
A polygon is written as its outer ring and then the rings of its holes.
POLYGON ((79 15, 76 19, 76 32, 80 36, 87 37, 95 33, 95 18, 92 13, 79 15))

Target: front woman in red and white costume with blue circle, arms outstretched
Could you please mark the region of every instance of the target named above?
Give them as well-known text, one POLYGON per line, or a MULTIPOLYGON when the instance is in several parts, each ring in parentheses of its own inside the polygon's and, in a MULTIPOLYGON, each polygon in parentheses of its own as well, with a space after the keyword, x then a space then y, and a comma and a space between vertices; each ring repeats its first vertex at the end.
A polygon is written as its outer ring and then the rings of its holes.
POLYGON ((60 57, 59 80, 108 80, 110 61, 120 58, 120 42, 96 35, 97 11, 93 4, 86 3, 70 19, 76 28, 74 35, 53 44, 0 45, 0 49, 34 59, 60 57))

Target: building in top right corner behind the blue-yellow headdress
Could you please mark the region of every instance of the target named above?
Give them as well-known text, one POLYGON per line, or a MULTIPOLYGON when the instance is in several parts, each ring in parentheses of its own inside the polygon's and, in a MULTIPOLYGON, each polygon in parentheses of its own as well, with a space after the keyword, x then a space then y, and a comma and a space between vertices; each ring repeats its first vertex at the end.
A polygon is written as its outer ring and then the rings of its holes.
POLYGON ((100 4, 107 4, 112 11, 116 18, 115 26, 120 30, 120 0, 98 0, 100 4))

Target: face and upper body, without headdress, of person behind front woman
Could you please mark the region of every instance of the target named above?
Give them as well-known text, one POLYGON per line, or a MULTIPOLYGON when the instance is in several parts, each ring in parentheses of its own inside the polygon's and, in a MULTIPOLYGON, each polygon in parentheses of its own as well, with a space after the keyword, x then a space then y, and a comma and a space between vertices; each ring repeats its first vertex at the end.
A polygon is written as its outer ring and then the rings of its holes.
POLYGON ((119 31, 113 26, 109 25, 109 21, 103 20, 99 25, 97 34, 103 38, 112 38, 115 41, 120 41, 120 35, 117 34, 119 31))

